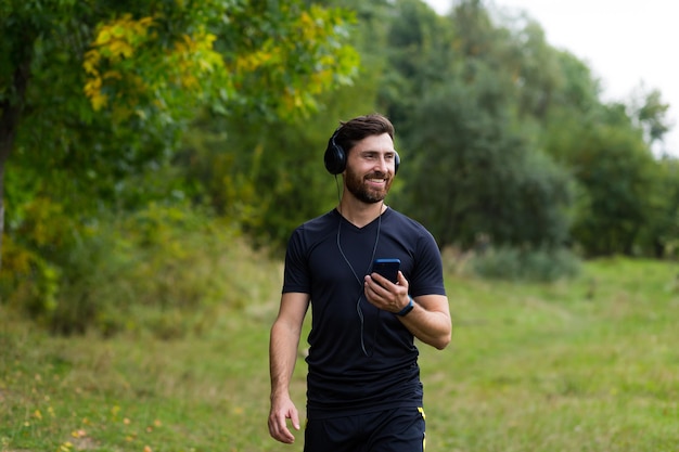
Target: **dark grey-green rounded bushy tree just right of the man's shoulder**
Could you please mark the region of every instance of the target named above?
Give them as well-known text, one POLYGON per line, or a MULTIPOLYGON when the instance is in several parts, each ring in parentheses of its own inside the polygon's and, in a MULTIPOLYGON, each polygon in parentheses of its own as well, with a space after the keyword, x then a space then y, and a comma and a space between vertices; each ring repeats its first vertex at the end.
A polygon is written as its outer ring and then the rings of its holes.
POLYGON ((478 233, 499 245, 563 244, 568 175, 512 130, 492 76, 477 77, 432 91, 413 112, 409 211, 441 246, 470 246, 478 233))

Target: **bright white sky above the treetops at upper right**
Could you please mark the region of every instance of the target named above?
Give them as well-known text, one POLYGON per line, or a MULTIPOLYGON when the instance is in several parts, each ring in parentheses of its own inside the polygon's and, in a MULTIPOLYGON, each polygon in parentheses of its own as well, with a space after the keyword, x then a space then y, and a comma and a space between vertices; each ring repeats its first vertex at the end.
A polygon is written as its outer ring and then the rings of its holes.
MULTIPOLYGON (((439 14, 451 0, 425 0, 439 14)), ((628 103, 641 86, 669 103, 674 128, 655 148, 679 156, 679 2, 676 0, 495 0, 524 11, 547 42, 586 62, 601 80, 603 100, 628 103)))

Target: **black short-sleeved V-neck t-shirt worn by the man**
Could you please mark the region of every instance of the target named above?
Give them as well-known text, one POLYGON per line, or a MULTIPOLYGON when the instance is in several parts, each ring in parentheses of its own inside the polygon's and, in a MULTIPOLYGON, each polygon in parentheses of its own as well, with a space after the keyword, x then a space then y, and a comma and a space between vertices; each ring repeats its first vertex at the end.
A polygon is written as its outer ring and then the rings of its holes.
POLYGON ((446 295, 434 237, 390 208, 363 228, 335 209, 304 223, 290 240, 283 293, 311 298, 310 418, 422 405, 413 335, 363 295, 374 258, 400 259, 412 297, 446 295))

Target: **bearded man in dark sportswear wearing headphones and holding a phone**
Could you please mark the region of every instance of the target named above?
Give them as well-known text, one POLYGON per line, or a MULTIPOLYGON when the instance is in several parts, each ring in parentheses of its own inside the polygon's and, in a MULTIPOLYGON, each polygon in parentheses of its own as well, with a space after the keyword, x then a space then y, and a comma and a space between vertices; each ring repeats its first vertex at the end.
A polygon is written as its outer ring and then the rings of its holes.
POLYGON ((287 246, 269 348, 269 432, 292 443, 286 419, 300 428, 289 387, 310 304, 305 452, 424 451, 414 337, 437 349, 451 337, 438 247, 420 223, 384 204, 400 163, 387 118, 342 122, 324 159, 342 173, 343 195, 287 246), (396 284, 371 272, 376 258, 400 260, 396 284))

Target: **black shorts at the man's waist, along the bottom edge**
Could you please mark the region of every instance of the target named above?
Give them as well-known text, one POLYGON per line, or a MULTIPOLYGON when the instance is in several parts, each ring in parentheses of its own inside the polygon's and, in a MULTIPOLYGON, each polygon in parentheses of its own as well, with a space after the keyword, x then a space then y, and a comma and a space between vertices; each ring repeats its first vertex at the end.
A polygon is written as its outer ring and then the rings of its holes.
POLYGON ((424 452, 424 410, 307 419, 304 452, 424 452))

